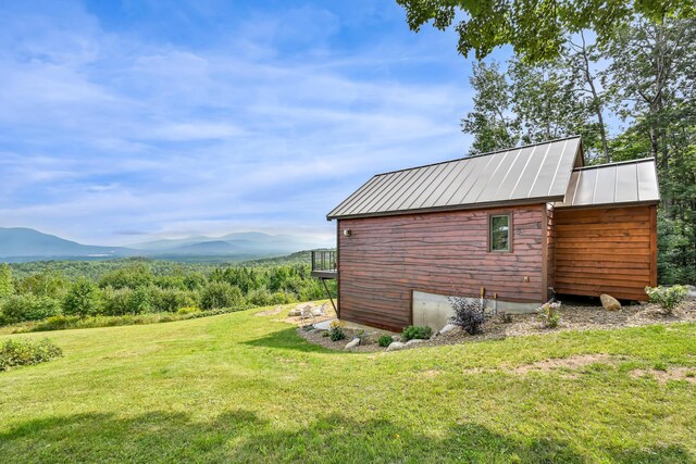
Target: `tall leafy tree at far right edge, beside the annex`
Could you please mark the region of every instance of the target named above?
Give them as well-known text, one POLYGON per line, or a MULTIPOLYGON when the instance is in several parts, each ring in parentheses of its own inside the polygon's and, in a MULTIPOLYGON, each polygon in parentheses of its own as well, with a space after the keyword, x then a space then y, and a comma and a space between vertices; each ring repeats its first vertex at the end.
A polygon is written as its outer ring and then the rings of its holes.
POLYGON ((696 280, 696 20, 641 20, 605 48, 604 73, 630 124, 617 158, 651 154, 660 181, 658 267, 662 284, 696 280))

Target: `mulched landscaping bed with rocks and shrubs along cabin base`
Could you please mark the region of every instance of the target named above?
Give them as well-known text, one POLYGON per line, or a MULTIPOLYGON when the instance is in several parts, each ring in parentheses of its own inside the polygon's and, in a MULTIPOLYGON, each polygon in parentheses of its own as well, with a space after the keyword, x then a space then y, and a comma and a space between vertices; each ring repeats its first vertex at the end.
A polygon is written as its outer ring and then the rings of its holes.
MULTIPOLYGON (((545 328, 537 314, 534 313, 513 314, 509 323, 504 323, 500 316, 493 316, 482 325, 483 331, 481 334, 469 335, 455 328, 446 334, 433 336, 430 340, 423 340, 405 348, 455 344, 566 330, 617 329, 655 324, 693 323, 696 322, 696 298, 687 299, 670 315, 662 314, 661 308, 654 303, 624 305, 619 311, 607 311, 601 305, 562 304, 560 313, 560 323, 556 328, 545 328)), ((298 334, 306 340, 333 350, 344 350, 349 341, 361 335, 362 330, 345 329, 346 338, 338 341, 332 341, 330 337, 324 335, 326 333, 327 330, 298 328, 298 334)), ((361 343, 350 350, 385 351, 385 348, 377 344, 377 339, 383 334, 384 331, 376 329, 366 330, 361 343)), ((395 337, 395 341, 398 341, 397 337, 395 337)))

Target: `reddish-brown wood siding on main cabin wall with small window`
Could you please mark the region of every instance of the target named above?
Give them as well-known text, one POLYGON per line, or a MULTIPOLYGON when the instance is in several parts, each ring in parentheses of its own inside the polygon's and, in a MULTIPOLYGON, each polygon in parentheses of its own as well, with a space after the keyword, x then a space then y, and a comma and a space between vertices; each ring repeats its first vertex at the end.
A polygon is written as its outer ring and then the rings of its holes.
POLYGON ((413 290, 543 302, 545 204, 338 221, 340 317, 401 330, 413 290), (510 212, 512 252, 488 252, 488 215, 510 212), (350 237, 343 230, 351 229, 350 237), (524 281, 524 278, 529 281, 524 281))

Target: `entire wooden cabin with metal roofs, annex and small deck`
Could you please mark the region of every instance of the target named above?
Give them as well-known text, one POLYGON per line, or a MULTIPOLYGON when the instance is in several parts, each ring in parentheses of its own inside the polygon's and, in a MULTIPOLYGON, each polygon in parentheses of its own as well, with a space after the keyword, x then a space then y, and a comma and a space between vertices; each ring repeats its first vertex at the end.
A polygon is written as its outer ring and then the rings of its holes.
POLYGON ((434 328, 447 296, 533 311, 556 294, 646 300, 657 285, 654 159, 585 166, 580 137, 374 176, 328 215, 345 321, 434 328))

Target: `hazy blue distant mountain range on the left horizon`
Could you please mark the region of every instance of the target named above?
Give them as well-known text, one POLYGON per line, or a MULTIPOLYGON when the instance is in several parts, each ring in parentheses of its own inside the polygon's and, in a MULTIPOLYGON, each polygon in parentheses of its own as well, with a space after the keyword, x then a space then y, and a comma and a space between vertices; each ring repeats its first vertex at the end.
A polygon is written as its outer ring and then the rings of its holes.
POLYGON ((195 236, 163 239, 128 247, 82 244, 38 230, 0 227, 0 261, 103 260, 110 258, 148 256, 173 261, 251 260, 279 256, 301 250, 334 247, 320 240, 291 235, 235 233, 224 237, 195 236))

